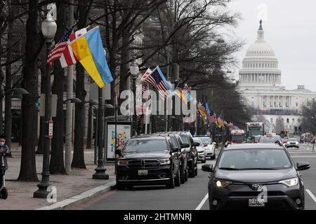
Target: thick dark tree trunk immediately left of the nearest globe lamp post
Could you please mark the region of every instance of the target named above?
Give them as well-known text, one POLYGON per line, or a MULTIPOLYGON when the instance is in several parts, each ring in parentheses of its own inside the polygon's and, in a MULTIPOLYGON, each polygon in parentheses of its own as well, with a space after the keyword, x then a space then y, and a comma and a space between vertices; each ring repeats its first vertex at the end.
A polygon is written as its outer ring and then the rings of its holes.
POLYGON ((29 92, 22 98, 22 158, 18 181, 39 181, 35 161, 35 62, 44 44, 39 33, 39 2, 29 1, 29 18, 26 25, 25 66, 22 69, 22 87, 29 92))

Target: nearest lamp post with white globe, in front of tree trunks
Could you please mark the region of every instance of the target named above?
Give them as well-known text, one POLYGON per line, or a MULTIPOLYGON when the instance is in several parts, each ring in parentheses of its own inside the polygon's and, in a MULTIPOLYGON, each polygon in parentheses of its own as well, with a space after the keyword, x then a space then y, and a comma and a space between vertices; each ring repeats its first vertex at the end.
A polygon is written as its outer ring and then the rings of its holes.
MULTIPOLYGON (((51 51, 52 39, 55 36, 57 25, 53 20, 50 13, 46 15, 46 19, 41 23, 41 32, 46 42, 46 58, 51 51)), ((49 184, 49 148, 50 139, 48 137, 49 123, 51 120, 51 67, 46 65, 46 77, 45 77, 45 128, 44 128, 44 154, 43 154, 43 170, 41 173, 41 183, 37 185, 39 188, 33 193, 33 197, 46 198, 48 195, 47 188, 49 184)))

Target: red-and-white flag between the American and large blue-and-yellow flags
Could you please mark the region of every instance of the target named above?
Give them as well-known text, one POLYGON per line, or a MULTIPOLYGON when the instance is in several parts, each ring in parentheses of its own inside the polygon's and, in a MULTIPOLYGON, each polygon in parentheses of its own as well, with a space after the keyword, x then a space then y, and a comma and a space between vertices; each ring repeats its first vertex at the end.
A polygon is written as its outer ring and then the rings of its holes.
MULTIPOLYGON (((79 38, 80 36, 86 34, 86 28, 79 29, 74 32, 74 34, 70 35, 69 40, 67 43, 74 41, 75 39, 79 38)), ((76 64, 78 62, 77 57, 74 56, 74 52, 72 51, 72 47, 68 44, 65 50, 62 52, 62 55, 59 59, 62 68, 70 66, 72 64, 76 64)))

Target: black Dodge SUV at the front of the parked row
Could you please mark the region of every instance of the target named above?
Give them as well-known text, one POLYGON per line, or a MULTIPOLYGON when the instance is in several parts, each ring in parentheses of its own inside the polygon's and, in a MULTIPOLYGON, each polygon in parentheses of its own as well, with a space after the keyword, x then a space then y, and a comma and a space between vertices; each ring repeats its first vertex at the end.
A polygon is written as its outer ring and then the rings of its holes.
POLYGON ((117 190, 125 186, 180 186, 178 147, 170 137, 133 137, 117 151, 117 190))

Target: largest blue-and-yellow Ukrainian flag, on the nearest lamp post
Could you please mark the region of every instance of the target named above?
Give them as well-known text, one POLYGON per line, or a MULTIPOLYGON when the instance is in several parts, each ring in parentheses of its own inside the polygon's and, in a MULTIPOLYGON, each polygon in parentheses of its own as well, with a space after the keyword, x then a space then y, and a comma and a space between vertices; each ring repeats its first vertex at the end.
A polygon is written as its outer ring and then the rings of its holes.
POLYGON ((112 82, 113 78, 107 65, 99 27, 91 29, 84 36, 72 41, 70 46, 78 61, 98 87, 102 88, 112 82))

